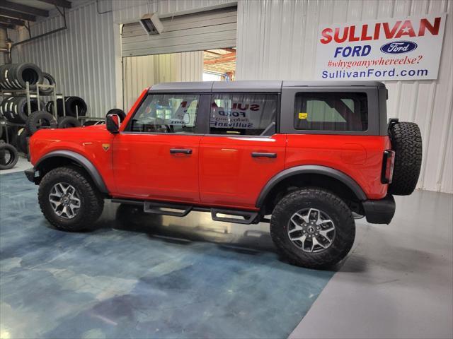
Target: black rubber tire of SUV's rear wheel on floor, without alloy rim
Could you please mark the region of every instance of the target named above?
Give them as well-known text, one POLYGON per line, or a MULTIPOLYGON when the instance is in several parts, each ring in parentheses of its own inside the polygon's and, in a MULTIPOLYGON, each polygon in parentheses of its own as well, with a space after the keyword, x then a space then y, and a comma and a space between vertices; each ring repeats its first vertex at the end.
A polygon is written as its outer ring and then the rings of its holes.
POLYGON ((287 194, 275 206, 270 219, 270 235, 277 249, 289 263, 305 268, 327 268, 341 261, 352 248, 355 222, 350 208, 338 196, 323 189, 300 189, 287 194), (318 208, 333 220, 336 234, 327 249, 307 253, 289 239, 289 220, 302 208, 318 208))

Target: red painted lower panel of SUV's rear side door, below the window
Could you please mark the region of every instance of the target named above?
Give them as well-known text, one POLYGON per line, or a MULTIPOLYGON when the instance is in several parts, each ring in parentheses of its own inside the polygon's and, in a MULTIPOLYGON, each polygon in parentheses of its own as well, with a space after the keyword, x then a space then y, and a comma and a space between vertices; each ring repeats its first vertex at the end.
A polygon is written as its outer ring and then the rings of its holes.
POLYGON ((286 134, 271 138, 205 136, 200 144, 200 196, 207 205, 254 208, 265 184, 285 167, 286 134), (252 152, 277 157, 252 157, 252 152))

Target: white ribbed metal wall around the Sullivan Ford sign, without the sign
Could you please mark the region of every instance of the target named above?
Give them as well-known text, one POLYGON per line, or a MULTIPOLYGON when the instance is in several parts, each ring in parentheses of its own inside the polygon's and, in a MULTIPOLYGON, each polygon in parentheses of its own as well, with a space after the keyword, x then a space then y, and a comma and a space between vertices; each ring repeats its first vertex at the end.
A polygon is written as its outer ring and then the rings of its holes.
POLYGON ((389 117, 423 134, 418 187, 453 193, 452 0, 243 0, 238 2, 237 80, 311 80, 320 23, 447 12, 437 81, 386 81, 389 117))

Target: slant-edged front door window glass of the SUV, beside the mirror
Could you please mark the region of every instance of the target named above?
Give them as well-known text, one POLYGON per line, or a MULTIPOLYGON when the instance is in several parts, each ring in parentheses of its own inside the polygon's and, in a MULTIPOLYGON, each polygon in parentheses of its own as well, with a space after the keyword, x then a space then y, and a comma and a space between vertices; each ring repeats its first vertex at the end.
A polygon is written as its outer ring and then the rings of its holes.
POLYGON ((142 102, 127 131, 195 133, 200 95, 150 94, 142 102))

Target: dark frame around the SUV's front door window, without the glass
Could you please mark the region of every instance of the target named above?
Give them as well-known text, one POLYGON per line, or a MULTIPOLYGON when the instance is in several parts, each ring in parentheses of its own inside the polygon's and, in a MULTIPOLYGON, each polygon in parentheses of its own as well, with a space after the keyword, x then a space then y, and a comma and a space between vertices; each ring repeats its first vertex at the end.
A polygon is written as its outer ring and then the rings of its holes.
POLYGON ((143 97, 143 100, 137 105, 137 108, 132 112, 130 119, 127 121, 127 125, 125 128, 120 131, 120 133, 125 134, 165 134, 167 136, 202 136, 204 135, 203 129, 205 129, 205 119, 203 119, 203 111, 206 109, 206 102, 210 100, 210 93, 205 92, 148 92, 147 95, 143 97), (143 103, 147 100, 149 95, 199 95, 198 99, 198 109, 197 109, 197 116, 195 117, 195 132, 194 133, 167 133, 167 132, 139 132, 139 131, 130 131, 132 126, 132 120, 135 117, 135 114, 139 111, 140 107, 142 107, 143 103))

